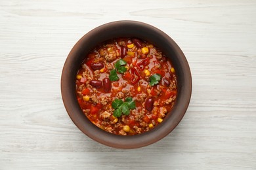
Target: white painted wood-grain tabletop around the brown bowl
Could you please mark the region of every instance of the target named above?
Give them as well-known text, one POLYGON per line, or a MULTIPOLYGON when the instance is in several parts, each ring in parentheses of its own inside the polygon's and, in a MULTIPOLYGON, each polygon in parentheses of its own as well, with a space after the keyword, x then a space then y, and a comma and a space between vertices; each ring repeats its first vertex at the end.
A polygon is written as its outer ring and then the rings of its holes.
POLYGON ((0 169, 256 169, 256 1, 0 1, 0 169), (193 77, 181 124, 134 150, 103 146, 60 95, 75 42, 114 20, 152 24, 193 77))

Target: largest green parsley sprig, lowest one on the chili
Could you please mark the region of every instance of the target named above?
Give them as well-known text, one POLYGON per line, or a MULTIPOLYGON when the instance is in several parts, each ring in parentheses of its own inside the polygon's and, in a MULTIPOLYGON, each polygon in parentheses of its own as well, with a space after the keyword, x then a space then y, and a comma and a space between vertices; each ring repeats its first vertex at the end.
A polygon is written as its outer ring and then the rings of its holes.
POLYGON ((135 109, 135 101, 132 97, 127 97, 123 102, 121 99, 114 99, 112 101, 112 108, 114 108, 113 115, 115 117, 120 117, 121 114, 129 115, 131 109, 135 109))

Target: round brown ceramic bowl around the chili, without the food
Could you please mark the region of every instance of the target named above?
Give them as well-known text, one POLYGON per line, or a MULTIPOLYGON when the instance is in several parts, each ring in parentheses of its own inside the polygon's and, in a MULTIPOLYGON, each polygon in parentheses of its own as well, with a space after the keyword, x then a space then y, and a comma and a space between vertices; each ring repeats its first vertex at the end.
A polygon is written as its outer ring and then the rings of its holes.
POLYGON ((188 62, 181 49, 163 31, 142 22, 118 21, 96 27, 75 44, 64 64, 61 92, 70 118, 91 139, 114 148, 139 148, 156 143, 179 124, 190 102, 192 78, 188 62), (167 114, 161 124, 140 135, 114 135, 96 127, 83 114, 75 95, 75 76, 87 53, 100 42, 117 37, 138 37, 152 42, 171 59, 177 74, 178 93, 173 110, 167 114))

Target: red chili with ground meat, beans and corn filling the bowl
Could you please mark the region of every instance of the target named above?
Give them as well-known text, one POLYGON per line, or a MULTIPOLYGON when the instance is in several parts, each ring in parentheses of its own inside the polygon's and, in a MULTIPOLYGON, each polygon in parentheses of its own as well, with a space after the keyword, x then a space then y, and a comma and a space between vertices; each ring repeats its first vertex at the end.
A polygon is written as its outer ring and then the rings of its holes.
POLYGON ((83 61, 75 83, 77 101, 87 118, 117 135, 156 127, 173 108, 177 95, 171 61, 140 39, 120 38, 96 46, 83 61), (115 105, 115 101, 124 104, 115 105))

